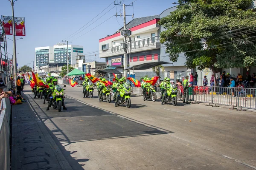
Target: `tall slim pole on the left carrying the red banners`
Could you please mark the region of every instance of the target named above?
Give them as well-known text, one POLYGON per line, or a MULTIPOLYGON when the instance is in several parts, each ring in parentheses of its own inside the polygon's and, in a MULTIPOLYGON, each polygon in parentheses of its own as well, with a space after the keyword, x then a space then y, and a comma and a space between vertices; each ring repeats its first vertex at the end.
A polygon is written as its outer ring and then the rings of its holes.
POLYGON ((11 6, 12 6, 12 34, 13 34, 13 68, 14 68, 14 75, 13 75, 13 78, 14 78, 14 82, 15 82, 15 85, 17 84, 16 83, 16 77, 17 77, 17 58, 16 58, 16 29, 15 29, 15 21, 14 21, 14 2, 17 1, 13 1, 13 0, 9 0, 11 2, 11 6))

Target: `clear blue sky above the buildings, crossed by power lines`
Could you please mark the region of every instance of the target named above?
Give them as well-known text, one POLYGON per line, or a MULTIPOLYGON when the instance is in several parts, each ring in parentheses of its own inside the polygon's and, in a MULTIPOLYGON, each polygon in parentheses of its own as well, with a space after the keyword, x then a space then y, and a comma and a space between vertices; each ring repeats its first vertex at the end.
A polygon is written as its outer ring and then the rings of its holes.
MULTIPOLYGON (((118 2, 120 0, 116 0, 118 2)), ((177 0, 122 0, 126 5, 132 2, 134 7, 126 7, 126 15, 134 14, 134 18, 138 18, 161 14, 175 6, 172 3, 177 0)), ((123 14, 122 6, 115 6, 113 0, 18 0, 14 10, 15 17, 25 17, 26 27, 26 37, 16 37, 16 40, 23 38, 16 41, 18 67, 32 67, 35 47, 53 46, 62 40, 83 45, 86 59, 104 62, 105 59, 100 59, 98 55, 99 39, 114 34, 123 26, 122 18, 113 16, 116 12, 120 15, 119 11, 123 14), (96 57, 94 54, 97 54, 96 57)), ((12 16, 12 6, 8 0, 1 0, 0 15, 12 16)), ((126 23, 131 20, 132 17, 126 17, 126 23)), ((7 35, 7 38, 13 39, 12 35, 7 35)), ((11 40, 7 40, 7 46, 12 54, 11 40)))

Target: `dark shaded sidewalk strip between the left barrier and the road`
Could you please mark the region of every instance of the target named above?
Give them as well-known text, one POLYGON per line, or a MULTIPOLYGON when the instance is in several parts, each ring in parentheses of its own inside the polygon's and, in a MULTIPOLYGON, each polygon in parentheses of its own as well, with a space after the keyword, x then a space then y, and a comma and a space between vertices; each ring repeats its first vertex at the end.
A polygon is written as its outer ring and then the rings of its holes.
POLYGON ((72 170, 29 102, 12 106, 11 170, 72 170))

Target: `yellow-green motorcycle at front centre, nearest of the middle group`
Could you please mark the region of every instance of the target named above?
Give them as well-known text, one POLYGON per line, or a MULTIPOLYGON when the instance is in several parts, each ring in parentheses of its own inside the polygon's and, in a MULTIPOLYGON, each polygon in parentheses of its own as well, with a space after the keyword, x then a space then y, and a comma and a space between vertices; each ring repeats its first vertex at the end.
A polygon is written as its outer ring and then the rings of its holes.
MULTIPOLYGON (((119 85, 117 86, 119 87, 119 85)), ((128 82, 124 83, 120 95, 116 96, 118 98, 117 105, 125 104, 126 108, 131 107, 131 88, 128 82)))

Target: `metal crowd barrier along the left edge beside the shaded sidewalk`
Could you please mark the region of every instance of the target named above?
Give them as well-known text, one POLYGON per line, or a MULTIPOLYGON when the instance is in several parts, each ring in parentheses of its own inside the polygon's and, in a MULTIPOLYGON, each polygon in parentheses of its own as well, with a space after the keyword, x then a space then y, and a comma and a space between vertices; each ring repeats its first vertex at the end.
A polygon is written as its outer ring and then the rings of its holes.
MULTIPOLYGON (((7 82, 8 91, 10 83, 7 82)), ((10 119, 11 119, 11 104, 9 98, 3 98, 0 104, 0 167, 1 170, 10 169, 10 119)))

